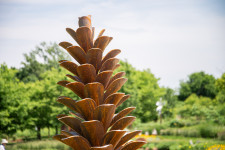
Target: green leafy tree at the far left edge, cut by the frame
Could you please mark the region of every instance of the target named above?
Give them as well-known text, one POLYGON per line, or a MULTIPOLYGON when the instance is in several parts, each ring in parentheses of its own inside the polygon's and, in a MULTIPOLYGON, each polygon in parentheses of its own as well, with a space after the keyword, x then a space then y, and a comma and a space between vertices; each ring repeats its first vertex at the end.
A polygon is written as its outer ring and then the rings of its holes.
POLYGON ((27 119, 29 96, 27 88, 6 64, 0 67, 0 133, 12 135, 18 129, 24 129, 27 119))

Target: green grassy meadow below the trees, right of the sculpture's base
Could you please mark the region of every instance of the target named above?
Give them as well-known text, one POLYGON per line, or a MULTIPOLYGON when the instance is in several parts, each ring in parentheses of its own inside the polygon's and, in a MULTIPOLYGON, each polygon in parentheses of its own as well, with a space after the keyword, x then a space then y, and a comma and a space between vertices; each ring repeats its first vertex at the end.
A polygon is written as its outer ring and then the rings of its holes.
POLYGON ((153 129, 157 130, 160 136, 145 137, 148 143, 144 147, 150 150, 206 150, 219 144, 225 147, 225 126, 205 120, 164 120, 162 124, 148 122, 138 124, 137 129, 149 134, 153 129))

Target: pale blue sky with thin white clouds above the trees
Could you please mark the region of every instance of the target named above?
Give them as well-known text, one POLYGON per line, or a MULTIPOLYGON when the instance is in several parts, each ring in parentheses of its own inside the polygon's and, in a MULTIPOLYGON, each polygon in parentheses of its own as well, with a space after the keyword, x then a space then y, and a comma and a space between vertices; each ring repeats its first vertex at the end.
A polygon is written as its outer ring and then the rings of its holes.
POLYGON ((41 42, 72 42, 65 28, 92 15, 96 33, 113 40, 105 50, 160 86, 179 88, 188 75, 225 72, 224 0, 0 0, 0 64, 22 67, 23 54, 41 42))

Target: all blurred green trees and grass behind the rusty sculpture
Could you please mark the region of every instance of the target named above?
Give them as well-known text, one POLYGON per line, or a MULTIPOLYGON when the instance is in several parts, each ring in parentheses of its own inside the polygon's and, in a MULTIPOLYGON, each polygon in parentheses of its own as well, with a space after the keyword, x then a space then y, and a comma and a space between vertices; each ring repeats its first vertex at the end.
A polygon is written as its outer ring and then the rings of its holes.
MULTIPOLYGON (((0 138, 11 141, 10 149, 33 149, 32 146, 43 149, 40 145, 49 149, 68 149, 48 138, 58 134, 62 125, 56 116, 69 112, 56 102, 57 97, 69 96, 79 100, 70 90, 56 84, 59 80, 70 80, 65 76, 68 72, 58 65, 58 61, 63 59, 72 60, 57 44, 43 42, 24 54, 21 68, 1 64, 0 138), (43 141, 13 144, 35 139, 43 141)), ((210 138, 214 144, 225 141, 225 73, 215 78, 203 71, 195 72, 180 82, 178 90, 174 90, 160 87, 159 78, 150 69, 138 70, 127 60, 120 61, 120 64, 117 72, 125 71, 128 78, 120 92, 131 97, 117 111, 135 106, 137 108, 132 115, 137 120, 129 129, 141 129, 149 134, 157 130, 161 140, 156 140, 155 144, 151 141, 153 144, 147 144, 149 148, 159 148, 163 143, 161 147, 166 147, 164 149, 185 149, 191 146, 188 138, 198 138, 200 143, 205 140, 202 138, 210 138), (160 98, 165 103, 162 123, 156 112, 156 102, 160 98), (186 139, 176 142, 176 137, 186 139), (172 140, 165 142, 165 139, 172 140)), ((192 146, 192 149, 196 148, 192 146)))

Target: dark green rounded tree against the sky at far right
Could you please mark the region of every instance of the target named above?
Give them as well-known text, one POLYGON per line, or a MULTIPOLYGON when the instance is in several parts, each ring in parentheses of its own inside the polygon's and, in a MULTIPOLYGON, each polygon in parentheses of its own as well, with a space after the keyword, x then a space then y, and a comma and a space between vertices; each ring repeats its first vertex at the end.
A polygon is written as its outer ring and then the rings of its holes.
POLYGON ((179 100, 185 100, 192 93, 198 96, 215 98, 217 90, 215 87, 216 79, 213 75, 204 72, 196 72, 189 75, 186 82, 180 83, 179 100))

